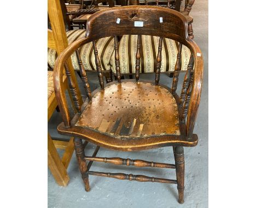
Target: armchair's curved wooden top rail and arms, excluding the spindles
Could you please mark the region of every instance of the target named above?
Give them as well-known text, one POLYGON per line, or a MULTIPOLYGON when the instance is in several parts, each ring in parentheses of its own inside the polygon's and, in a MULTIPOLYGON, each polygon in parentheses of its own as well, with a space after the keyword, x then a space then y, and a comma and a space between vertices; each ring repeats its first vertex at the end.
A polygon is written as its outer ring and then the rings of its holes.
POLYGON ((98 11, 88 19, 86 37, 74 41, 57 58, 54 66, 54 87, 66 127, 71 125, 65 88, 62 83, 63 69, 66 61, 77 48, 88 42, 107 36, 125 34, 154 35, 169 38, 180 42, 190 49, 195 61, 193 90, 187 117, 187 138, 191 138, 201 95, 203 76, 201 50, 188 37, 188 23, 181 13, 172 9, 152 6, 114 7, 98 11))

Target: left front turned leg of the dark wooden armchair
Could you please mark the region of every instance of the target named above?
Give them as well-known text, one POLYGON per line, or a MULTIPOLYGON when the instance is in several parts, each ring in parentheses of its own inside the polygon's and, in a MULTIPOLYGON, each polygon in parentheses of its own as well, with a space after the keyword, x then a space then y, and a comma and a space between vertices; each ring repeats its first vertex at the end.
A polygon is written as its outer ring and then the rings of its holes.
POLYGON ((74 148, 75 148, 75 155, 77 155, 77 162, 82 175, 82 179, 84 181, 85 191, 89 192, 90 191, 89 175, 88 173, 86 173, 87 172, 86 161, 83 160, 85 155, 84 155, 82 139, 74 138, 74 148))

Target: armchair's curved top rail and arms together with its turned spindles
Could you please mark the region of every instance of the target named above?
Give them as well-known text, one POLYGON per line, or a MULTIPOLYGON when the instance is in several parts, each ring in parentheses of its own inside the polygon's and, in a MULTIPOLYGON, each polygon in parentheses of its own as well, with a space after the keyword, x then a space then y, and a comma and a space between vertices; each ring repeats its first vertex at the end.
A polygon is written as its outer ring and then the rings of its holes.
MULTIPOLYGON (((182 112, 182 122, 185 123, 187 118, 187 138, 191 138, 193 134, 197 109, 199 107, 200 95, 201 95, 201 83, 203 74, 203 59, 200 48, 195 44, 193 40, 188 37, 188 23, 185 17, 178 11, 152 6, 129 6, 129 7, 115 7, 98 11, 87 22, 87 30, 85 38, 74 41, 69 45, 65 51, 63 51, 57 58, 54 66, 54 87, 56 98, 59 104, 59 108, 62 114, 62 119, 66 127, 71 126, 71 118, 68 111, 67 101, 65 97, 65 91, 62 84, 63 68, 68 58, 75 52, 77 55, 80 72, 82 75, 82 81, 84 83, 84 89, 89 101, 91 100, 91 90, 88 83, 88 77, 86 76, 85 68, 80 59, 78 48, 88 42, 93 43, 95 64, 100 86, 104 89, 103 75, 101 70, 101 62, 98 57, 98 51, 96 46, 96 40, 114 36, 114 53, 115 64, 117 66, 117 78, 118 82, 121 82, 120 75, 120 60, 118 54, 118 38, 119 35, 138 35, 137 40, 137 52, 136 52, 136 81, 139 81, 139 69, 140 69, 140 44, 141 35, 153 35, 159 36, 158 55, 156 57, 156 73, 155 84, 158 85, 160 79, 160 67, 161 67, 161 50, 162 50, 162 38, 169 38, 179 42, 178 54, 176 66, 174 69, 173 83, 171 87, 172 94, 176 94, 176 88, 178 83, 179 71, 181 70, 181 51, 182 45, 187 46, 190 49, 191 57, 188 64, 188 71, 185 75, 181 97, 179 97, 178 106, 182 112), (160 21, 162 17, 162 22, 160 21), (135 24, 142 24, 142 27, 136 27, 135 24), (191 70, 194 68, 194 73, 191 76, 191 70)), ((68 69, 65 67, 66 74, 68 75, 68 69)), ((74 82, 69 78, 70 86, 75 86, 74 82)), ((72 88, 71 88, 72 89, 72 88)), ((77 102, 77 95, 75 95, 75 89, 72 90, 74 103, 77 103, 77 110, 80 111, 82 103, 77 102)))

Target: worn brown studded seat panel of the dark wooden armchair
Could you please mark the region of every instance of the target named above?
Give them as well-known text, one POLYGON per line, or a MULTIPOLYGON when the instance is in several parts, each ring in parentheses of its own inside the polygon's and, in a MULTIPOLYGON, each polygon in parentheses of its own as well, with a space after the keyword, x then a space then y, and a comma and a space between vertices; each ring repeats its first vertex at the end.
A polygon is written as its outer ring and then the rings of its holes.
POLYGON ((166 88, 127 81, 94 94, 75 126, 117 138, 180 135, 178 118, 176 100, 166 88))

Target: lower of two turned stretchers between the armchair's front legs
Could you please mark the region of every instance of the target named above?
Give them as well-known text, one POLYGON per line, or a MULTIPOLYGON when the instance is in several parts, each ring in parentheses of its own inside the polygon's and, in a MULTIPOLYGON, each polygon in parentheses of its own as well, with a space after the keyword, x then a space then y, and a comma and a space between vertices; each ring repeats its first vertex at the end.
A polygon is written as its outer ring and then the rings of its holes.
POLYGON ((97 176, 103 176, 103 177, 114 178, 119 180, 177 184, 176 180, 160 179, 160 178, 149 177, 146 175, 133 175, 133 174, 124 174, 124 173, 103 173, 103 172, 95 172, 95 171, 88 171, 87 173, 88 175, 97 175, 97 176))

